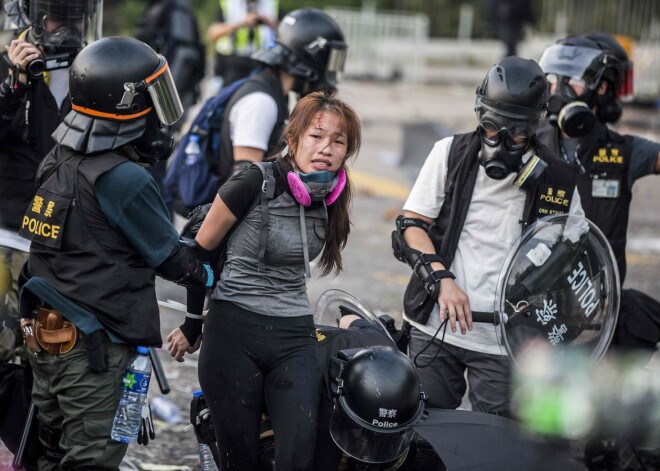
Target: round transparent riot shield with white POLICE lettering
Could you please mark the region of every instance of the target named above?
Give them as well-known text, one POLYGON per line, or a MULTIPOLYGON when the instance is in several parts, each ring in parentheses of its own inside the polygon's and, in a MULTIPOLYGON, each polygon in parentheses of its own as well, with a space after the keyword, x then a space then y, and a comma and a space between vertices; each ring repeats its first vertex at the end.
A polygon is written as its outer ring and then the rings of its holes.
POLYGON ((498 280, 500 345, 514 363, 531 343, 579 349, 593 362, 610 343, 619 311, 612 249, 589 220, 549 216, 511 248, 498 280))

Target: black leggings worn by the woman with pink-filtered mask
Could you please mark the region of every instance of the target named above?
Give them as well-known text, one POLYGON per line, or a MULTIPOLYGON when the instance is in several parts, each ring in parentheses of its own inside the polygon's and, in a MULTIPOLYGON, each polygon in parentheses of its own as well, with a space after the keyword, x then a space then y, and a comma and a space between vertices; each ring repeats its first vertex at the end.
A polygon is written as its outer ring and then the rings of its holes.
POLYGON ((222 469, 257 469, 264 400, 275 433, 276 468, 312 469, 321 375, 311 315, 263 316, 214 301, 198 373, 222 469))

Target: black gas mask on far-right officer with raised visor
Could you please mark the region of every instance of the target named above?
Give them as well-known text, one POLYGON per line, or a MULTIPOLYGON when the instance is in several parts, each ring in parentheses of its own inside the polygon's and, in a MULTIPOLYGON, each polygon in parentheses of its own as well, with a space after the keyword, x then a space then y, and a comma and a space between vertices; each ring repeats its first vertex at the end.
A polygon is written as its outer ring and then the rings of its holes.
POLYGON ((589 104, 594 100, 594 92, 585 87, 584 93, 578 96, 572 81, 581 82, 580 79, 569 79, 565 77, 548 74, 548 81, 556 84, 555 93, 548 100, 548 121, 559 127, 568 137, 578 138, 589 134, 596 124, 596 118, 591 112, 589 104))

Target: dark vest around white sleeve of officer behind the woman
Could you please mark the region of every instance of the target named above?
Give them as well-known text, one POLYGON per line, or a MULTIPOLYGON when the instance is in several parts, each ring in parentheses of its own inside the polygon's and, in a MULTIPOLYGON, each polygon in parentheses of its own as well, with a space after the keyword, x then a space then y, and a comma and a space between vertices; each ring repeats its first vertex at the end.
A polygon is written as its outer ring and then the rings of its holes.
POLYGON ((222 158, 220 159, 217 174, 221 176, 226 175, 226 178, 224 181, 220 182, 220 185, 231 176, 232 167, 234 165, 234 144, 231 142, 230 137, 229 113, 238 100, 254 92, 264 92, 273 97, 275 103, 277 103, 277 121, 275 122, 275 127, 273 127, 273 130, 270 133, 268 149, 266 149, 265 157, 275 152, 280 142, 282 130, 284 129, 284 122, 289 117, 288 96, 282 91, 282 82, 280 82, 280 79, 277 76, 276 69, 264 66, 261 71, 250 77, 238 90, 236 90, 225 106, 225 112, 222 117, 220 142, 220 155, 222 158), (225 158, 225 156, 231 156, 231 158, 225 158))

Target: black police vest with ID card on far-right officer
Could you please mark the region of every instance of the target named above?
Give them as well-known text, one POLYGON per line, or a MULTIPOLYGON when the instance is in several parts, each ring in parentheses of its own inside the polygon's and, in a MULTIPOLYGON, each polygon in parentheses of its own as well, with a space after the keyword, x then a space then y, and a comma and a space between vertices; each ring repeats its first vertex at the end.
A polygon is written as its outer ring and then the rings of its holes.
MULTIPOLYGON (((554 155, 562 156, 559 130, 545 124, 537 133, 554 155)), ((577 186, 582 208, 612 246, 621 284, 626 278, 626 234, 632 200, 628 172, 632 156, 632 138, 621 136, 597 123, 593 132, 580 142, 577 186), (584 169, 584 171, 582 170, 584 169)))

